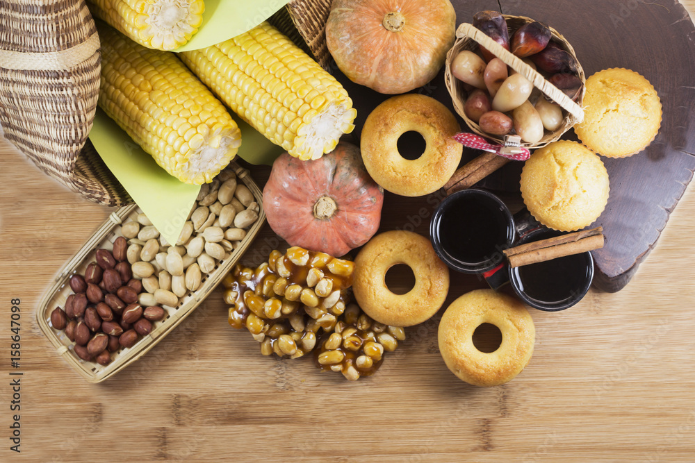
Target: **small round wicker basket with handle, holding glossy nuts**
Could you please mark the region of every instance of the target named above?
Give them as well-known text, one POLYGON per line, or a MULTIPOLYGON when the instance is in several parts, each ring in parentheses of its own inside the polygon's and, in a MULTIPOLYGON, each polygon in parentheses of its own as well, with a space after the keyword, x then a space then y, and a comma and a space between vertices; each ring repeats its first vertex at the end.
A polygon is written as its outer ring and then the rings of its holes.
MULTIPOLYGON (((529 17, 510 15, 503 16, 507 20, 509 37, 512 37, 514 32, 524 24, 534 22, 534 19, 529 17)), ((550 32, 553 33, 553 40, 576 59, 577 55, 572 48, 572 45, 560 33, 555 31, 554 28, 551 27, 550 32)), ((446 56, 444 81, 454 103, 454 109, 459 116, 466 121, 466 124, 468 124, 468 127, 471 128, 471 131, 477 133, 478 135, 487 137, 498 144, 504 144, 504 140, 502 138, 483 132, 478 124, 466 116, 466 112, 464 111, 464 104, 466 103, 466 90, 464 90, 464 83, 459 81, 451 74, 451 63, 457 54, 464 50, 477 51, 478 44, 488 49, 491 53, 493 53, 493 55, 500 58, 500 60, 504 61, 509 67, 527 78, 534 85, 534 87, 537 87, 539 90, 541 90, 541 92, 543 92, 543 94, 555 101, 555 103, 559 104, 559 106, 566 111, 566 117, 562 122, 562 126, 560 126, 557 131, 552 133, 548 133, 548 131, 546 131, 545 135, 543 135, 543 138, 541 138, 539 142, 523 143, 521 146, 525 146, 526 148, 542 148, 543 146, 559 140, 566 131, 569 131, 569 129, 575 124, 578 124, 578 122, 584 120, 582 101, 584 101, 584 93, 586 92, 587 78, 584 76, 584 69, 582 69, 582 65, 580 64, 579 60, 577 60, 578 76, 584 85, 582 85, 580 96, 577 103, 575 103, 569 98, 569 96, 555 87, 555 85, 546 81, 546 79, 543 78, 539 72, 535 71, 532 67, 523 62, 521 58, 514 56, 512 53, 502 48, 500 44, 482 33, 479 29, 473 27, 472 24, 461 24, 459 28, 457 28, 456 37, 457 38, 454 46, 449 50, 446 56)))

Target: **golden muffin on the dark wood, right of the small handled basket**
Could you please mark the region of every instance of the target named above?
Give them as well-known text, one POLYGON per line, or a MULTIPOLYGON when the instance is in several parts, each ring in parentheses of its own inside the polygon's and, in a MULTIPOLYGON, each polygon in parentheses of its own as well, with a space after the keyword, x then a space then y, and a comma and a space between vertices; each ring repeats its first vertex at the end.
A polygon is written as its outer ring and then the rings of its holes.
POLYGON ((587 79, 584 121, 574 131, 596 153, 625 158, 651 144, 661 118, 661 100, 646 78, 629 69, 605 69, 587 79))

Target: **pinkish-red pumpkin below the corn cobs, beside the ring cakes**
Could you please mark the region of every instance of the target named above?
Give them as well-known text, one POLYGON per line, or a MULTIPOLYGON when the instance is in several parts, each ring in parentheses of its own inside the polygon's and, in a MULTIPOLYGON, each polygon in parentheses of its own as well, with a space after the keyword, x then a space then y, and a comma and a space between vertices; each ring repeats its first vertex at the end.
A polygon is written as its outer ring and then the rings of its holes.
POLYGON ((334 256, 368 242, 383 203, 384 191, 367 173, 359 148, 345 142, 313 161, 282 154, 263 188, 265 217, 275 233, 291 246, 334 256))

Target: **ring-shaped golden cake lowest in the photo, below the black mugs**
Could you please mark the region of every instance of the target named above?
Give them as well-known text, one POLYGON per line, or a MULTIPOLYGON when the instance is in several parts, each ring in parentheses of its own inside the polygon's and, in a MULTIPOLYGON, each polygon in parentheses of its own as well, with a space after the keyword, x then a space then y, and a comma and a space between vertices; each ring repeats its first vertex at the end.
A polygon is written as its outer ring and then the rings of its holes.
POLYGON ((444 363, 461 380, 474 386, 498 386, 513 380, 531 360, 536 328, 521 301, 492 289, 477 289, 446 309, 437 339, 444 363), (473 344, 473 332, 483 323, 502 332, 502 344, 491 353, 473 344))

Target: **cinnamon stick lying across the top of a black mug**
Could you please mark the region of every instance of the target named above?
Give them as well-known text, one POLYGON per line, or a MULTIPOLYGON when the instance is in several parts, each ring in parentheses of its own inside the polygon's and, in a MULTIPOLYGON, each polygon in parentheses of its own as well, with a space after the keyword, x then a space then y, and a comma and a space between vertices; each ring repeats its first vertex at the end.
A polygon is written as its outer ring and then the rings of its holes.
POLYGON ((603 242, 603 227, 598 227, 569 235, 541 239, 541 241, 505 249, 503 252, 509 260, 509 266, 514 268, 546 262, 546 260, 562 258, 566 255, 594 251, 594 249, 603 248, 603 242))

